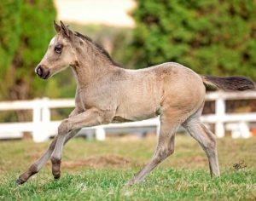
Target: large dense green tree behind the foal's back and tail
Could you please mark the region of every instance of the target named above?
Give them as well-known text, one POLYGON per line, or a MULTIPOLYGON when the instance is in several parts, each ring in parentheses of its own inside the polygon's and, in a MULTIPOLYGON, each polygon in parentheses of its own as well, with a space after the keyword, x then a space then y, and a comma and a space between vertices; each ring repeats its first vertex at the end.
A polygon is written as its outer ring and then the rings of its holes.
POLYGON ((137 0, 127 58, 135 68, 176 61, 256 79, 255 10, 252 0, 137 0))

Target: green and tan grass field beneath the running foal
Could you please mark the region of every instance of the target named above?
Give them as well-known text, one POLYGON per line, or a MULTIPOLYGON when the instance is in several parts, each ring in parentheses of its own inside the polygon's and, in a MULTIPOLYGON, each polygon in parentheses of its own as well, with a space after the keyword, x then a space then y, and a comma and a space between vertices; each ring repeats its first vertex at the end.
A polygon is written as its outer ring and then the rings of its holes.
POLYGON ((151 158, 155 138, 73 139, 65 147, 62 175, 50 164, 22 186, 15 180, 49 142, 0 141, 0 200, 256 200, 256 138, 218 140, 221 177, 211 179, 205 153, 188 136, 177 135, 174 154, 143 183, 125 183, 151 158), (244 169, 233 164, 244 161, 244 169))

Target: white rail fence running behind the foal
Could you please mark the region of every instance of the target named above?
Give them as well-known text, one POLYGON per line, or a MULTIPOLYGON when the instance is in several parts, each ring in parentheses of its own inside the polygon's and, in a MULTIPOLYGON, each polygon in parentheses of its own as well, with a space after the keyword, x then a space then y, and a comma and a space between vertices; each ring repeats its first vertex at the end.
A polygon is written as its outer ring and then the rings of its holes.
MULTIPOLYGON (((215 113, 203 115, 201 120, 204 123, 215 124, 215 134, 223 137, 226 130, 230 130, 232 137, 249 137, 251 135, 248 123, 256 123, 256 112, 251 113, 226 113, 225 100, 256 100, 256 91, 247 92, 211 92, 207 94, 206 100, 215 101, 215 113)), ((0 138, 22 137, 23 132, 31 132, 36 142, 46 141, 50 136, 57 134, 60 121, 50 120, 50 109, 73 107, 73 99, 49 100, 48 98, 36 100, 17 100, 0 102, 0 112, 10 110, 32 110, 32 122, 26 123, 0 123, 0 138)), ((96 126, 93 128, 96 139, 105 140, 106 129, 119 128, 160 128, 159 118, 148 119, 131 123, 110 123, 108 125, 96 126)))

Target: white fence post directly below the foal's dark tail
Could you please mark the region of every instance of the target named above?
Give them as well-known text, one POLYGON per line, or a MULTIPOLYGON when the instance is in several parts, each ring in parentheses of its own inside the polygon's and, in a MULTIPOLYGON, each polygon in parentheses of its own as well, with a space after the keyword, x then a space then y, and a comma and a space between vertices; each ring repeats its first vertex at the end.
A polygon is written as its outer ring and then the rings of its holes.
POLYGON ((225 129, 224 129, 224 115, 225 115, 225 100, 221 95, 222 92, 218 92, 218 98, 215 101, 215 114, 217 117, 217 121, 215 123, 215 133, 217 137, 224 137, 225 129))

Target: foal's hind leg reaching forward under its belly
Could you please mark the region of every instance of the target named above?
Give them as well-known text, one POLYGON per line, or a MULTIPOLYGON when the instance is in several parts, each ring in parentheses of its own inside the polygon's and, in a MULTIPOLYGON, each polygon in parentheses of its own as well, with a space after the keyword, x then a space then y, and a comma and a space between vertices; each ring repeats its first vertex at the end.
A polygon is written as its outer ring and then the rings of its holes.
POLYGON ((143 181, 150 171, 174 152, 175 134, 179 124, 180 121, 178 119, 170 119, 165 116, 161 117, 160 135, 154 156, 150 162, 128 182, 128 185, 143 181))

